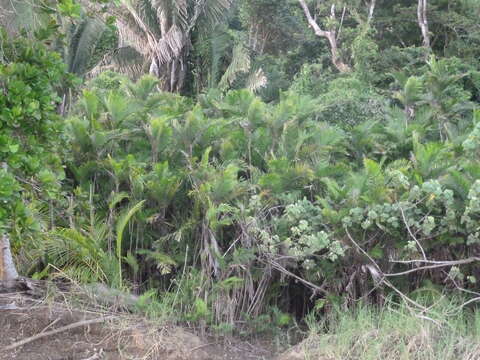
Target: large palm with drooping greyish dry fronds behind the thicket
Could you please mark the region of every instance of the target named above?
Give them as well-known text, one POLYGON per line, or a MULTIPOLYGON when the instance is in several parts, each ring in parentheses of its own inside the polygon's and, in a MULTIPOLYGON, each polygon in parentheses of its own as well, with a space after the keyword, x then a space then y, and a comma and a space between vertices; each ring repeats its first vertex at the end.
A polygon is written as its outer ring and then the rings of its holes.
POLYGON ((105 68, 137 77, 149 72, 164 91, 179 92, 187 75, 192 32, 211 29, 225 18, 234 0, 121 0, 117 18, 119 47, 105 68))

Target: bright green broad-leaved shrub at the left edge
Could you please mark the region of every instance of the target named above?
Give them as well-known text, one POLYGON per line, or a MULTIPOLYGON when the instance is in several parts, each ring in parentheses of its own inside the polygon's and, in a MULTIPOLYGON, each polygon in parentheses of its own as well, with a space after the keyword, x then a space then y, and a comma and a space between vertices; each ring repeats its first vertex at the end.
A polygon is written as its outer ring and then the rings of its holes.
POLYGON ((0 32, 0 48, 0 232, 19 246, 53 225, 62 198, 65 138, 57 94, 71 78, 60 56, 39 42, 0 32))

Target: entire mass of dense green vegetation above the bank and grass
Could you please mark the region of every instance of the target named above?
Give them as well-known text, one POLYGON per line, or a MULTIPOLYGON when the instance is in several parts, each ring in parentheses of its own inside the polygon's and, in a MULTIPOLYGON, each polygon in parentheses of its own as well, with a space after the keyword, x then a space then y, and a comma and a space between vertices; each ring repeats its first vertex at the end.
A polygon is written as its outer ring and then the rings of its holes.
POLYGON ((225 330, 478 300, 477 1, 9 3, 36 19, 0 37, 21 274, 225 330))

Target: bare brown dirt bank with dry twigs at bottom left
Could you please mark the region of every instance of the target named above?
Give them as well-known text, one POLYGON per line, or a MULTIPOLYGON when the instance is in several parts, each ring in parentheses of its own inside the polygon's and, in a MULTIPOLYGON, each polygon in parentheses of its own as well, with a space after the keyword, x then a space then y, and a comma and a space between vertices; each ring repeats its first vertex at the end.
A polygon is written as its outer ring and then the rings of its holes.
POLYGON ((187 330, 132 315, 0 294, 0 360, 271 360, 275 356, 260 342, 202 340, 187 330))

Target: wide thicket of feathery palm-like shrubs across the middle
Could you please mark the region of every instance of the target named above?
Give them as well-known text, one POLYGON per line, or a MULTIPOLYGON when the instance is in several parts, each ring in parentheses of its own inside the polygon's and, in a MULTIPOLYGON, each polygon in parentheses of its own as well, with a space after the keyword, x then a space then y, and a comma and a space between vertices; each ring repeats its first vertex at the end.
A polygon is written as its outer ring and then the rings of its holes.
MULTIPOLYGON (((479 172, 468 155, 477 115, 459 75, 437 66, 398 85, 396 105, 382 100, 373 118, 351 124, 320 121, 325 99, 293 91, 277 104, 247 90, 212 91, 195 104, 158 92, 154 78, 133 84, 105 73, 68 121, 72 226, 91 223, 95 209, 113 228, 142 202, 122 241, 110 230, 97 245, 118 259, 117 277, 166 290, 179 272, 199 268, 198 294, 222 324, 261 313, 275 272, 280 284, 300 279, 318 297, 355 300, 379 272, 391 274, 387 288, 413 290, 425 273, 401 261, 470 258, 479 233, 479 172), (451 108, 437 107, 452 97, 451 108), (447 113, 455 132, 438 130, 447 113), (394 276, 403 271, 410 281, 394 276)), ((473 289, 475 268, 459 271, 473 289)), ((460 286, 452 276, 432 280, 460 286)))

